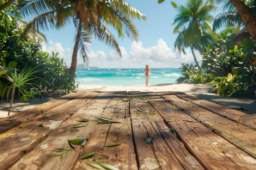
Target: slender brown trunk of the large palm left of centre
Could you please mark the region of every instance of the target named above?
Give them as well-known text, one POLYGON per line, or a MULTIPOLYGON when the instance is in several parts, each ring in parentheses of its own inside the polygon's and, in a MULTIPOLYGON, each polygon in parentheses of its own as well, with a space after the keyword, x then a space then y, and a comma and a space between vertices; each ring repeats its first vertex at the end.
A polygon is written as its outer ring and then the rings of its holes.
POLYGON ((81 32, 82 32, 82 25, 83 25, 83 22, 81 20, 79 20, 77 34, 76 34, 76 42, 74 45, 73 54, 72 54, 72 62, 71 62, 71 66, 70 66, 70 78, 69 78, 70 81, 74 81, 74 79, 76 77, 77 51, 78 51, 78 45, 80 42, 80 37, 81 37, 81 32))

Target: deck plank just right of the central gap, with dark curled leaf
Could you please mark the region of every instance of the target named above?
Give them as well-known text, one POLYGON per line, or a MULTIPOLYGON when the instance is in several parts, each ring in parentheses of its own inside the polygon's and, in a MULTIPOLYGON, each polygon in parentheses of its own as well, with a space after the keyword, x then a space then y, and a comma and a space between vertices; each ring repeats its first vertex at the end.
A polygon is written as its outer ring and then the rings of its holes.
POLYGON ((184 169, 177 158, 174 156, 171 148, 168 147, 166 141, 164 141, 163 137, 159 133, 159 129, 157 128, 155 121, 163 122, 162 117, 156 113, 156 111, 149 103, 137 102, 141 95, 146 96, 147 93, 129 93, 130 97, 134 97, 134 100, 130 100, 130 111, 133 138, 135 141, 136 154, 138 159, 138 167, 145 170, 184 169), (154 110, 156 115, 141 113, 136 109, 137 107, 143 110, 154 110), (155 126, 153 126, 153 124, 155 126), (153 137, 153 143, 146 144, 146 140, 150 137, 153 137))

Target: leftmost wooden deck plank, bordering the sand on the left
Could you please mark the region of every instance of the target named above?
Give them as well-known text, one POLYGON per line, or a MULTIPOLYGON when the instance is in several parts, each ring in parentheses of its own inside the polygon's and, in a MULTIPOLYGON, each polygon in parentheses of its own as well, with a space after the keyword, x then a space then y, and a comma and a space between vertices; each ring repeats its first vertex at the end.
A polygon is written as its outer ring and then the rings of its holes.
POLYGON ((58 97, 57 99, 52 99, 48 102, 45 102, 43 104, 40 104, 36 107, 29 108, 27 110, 23 110, 21 112, 18 112, 16 114, 10 115, 8 117, 4 117, 0 119, 0 133, 18 126, 22 122, 30 121, 33 117, 36 117, 40 115, 40 110, 43 110, 44 112, 59 106, 71 99, 73 99, 77 94, 76 93, 70 93, 62 97, 58 97))

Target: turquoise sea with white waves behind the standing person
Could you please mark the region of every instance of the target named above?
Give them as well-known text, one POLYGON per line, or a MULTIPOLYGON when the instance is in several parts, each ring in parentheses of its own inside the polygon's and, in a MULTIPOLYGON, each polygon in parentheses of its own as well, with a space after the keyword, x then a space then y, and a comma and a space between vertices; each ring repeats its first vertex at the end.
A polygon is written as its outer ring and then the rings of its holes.
MULTIPOLYGON (((148 86, 173 84, 182 75, 178 68, 150 68, 148 86)), ((111 86, 145 86, 144 69, 86 68, 76 70, 79 84, 111 86)))

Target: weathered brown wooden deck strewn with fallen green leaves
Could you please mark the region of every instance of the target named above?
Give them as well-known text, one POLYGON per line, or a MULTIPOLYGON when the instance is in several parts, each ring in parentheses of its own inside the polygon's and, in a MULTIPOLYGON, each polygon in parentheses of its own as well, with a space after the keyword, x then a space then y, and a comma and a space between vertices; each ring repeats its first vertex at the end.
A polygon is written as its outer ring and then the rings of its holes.
POLYGON ((94 91, 0 119, 1 170, 96 170, 102 162, 123 170, 256 170, 256 117, 180 92, 94 91), (73 128, 81 118, 90 122, 73 128), (83 146, 69 145, 78 138, 83 146))

